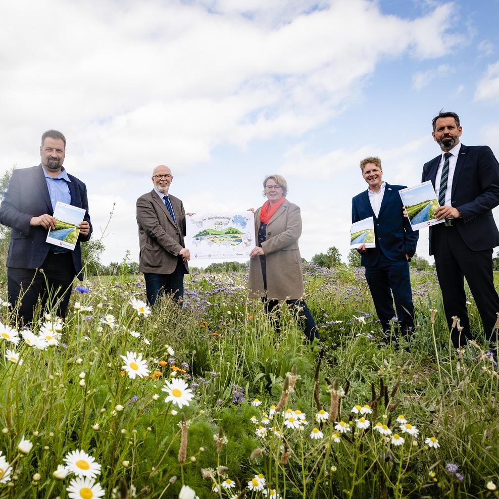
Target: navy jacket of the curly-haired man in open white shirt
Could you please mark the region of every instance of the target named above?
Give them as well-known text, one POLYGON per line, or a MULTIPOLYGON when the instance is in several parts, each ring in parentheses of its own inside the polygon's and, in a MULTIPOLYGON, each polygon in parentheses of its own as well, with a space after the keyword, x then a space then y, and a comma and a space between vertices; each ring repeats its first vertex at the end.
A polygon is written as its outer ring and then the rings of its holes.
POLYGON ((363 267, 373 267, 378 263, 381 252, 389 260, 406 260, 406 253, 412 257, 416 253, 419 230, 413 231, 409 219, 402 212, 402 199, 398 191, 403 185, 390 185, 385 182, 385 192, 378 217, 374 215, 367 190, 352 199, 352 223, 365 218, 374 219, 375 248, 368 248, 361 257, 363 267))

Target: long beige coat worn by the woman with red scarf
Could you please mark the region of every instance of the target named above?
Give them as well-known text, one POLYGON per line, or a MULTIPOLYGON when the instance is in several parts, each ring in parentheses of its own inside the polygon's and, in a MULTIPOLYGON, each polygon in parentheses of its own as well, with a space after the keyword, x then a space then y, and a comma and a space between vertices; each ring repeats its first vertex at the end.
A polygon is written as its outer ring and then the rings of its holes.
MULTIPOLYGON (((260 228, 259 208, 255 212, 255 235, 260 228)), ((303 297, 302 257, 298 238, 302 234, 300 207, 284 203, 267 225, 267 237, 262 249, 267 260, 267 298, 269 300, 299 300, 303 297)), ((248 296, 265 296, 260 257, 249 261, 248 296)))

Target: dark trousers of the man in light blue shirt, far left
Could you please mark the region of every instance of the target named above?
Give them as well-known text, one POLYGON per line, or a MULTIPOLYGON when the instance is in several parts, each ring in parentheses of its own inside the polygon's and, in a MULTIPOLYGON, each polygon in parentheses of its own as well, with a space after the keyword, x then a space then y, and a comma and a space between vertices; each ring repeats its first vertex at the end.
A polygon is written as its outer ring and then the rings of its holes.
POLYGON ((41 297, 42 310, 56 308, 59 317, 66 316, 76 273, 71 252, 49 251, 40 269, 43 273, 35 269, 7 269, 9 302, 18 306, 19 324, 33 322, 38 296, 41 297))

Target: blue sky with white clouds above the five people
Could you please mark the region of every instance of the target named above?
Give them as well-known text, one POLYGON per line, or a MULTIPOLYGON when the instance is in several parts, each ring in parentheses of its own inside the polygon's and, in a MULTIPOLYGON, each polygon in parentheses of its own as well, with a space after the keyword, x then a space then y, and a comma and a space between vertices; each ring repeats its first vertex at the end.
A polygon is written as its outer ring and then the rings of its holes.
POLYGON ((463 143, 499 154, 498 15, 499 0, 8 2, 0 173, 38 164, 41 134, 62 131, 106 264, 138 261, 135 202, 155 166, 196 213, 256 208, 279 173, 302 256, 336 246, 346 261, 361 159, 419 183, 442 108, 463 143))

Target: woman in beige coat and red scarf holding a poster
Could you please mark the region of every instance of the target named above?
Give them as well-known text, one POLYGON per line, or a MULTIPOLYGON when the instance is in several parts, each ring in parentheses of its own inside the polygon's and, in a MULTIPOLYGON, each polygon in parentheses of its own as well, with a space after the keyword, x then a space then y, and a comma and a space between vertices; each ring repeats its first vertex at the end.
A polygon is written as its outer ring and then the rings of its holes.
POLYGON ((248 295, 262 297, 268 314, 285 300, 303 318, 305 334, 313 341, 319 331, 303 300, 300 208, 286 199, 287 183, 281 175, 269 175, 263 186, 267 201, 255 212, 258 246, 249 254, 248 295))

